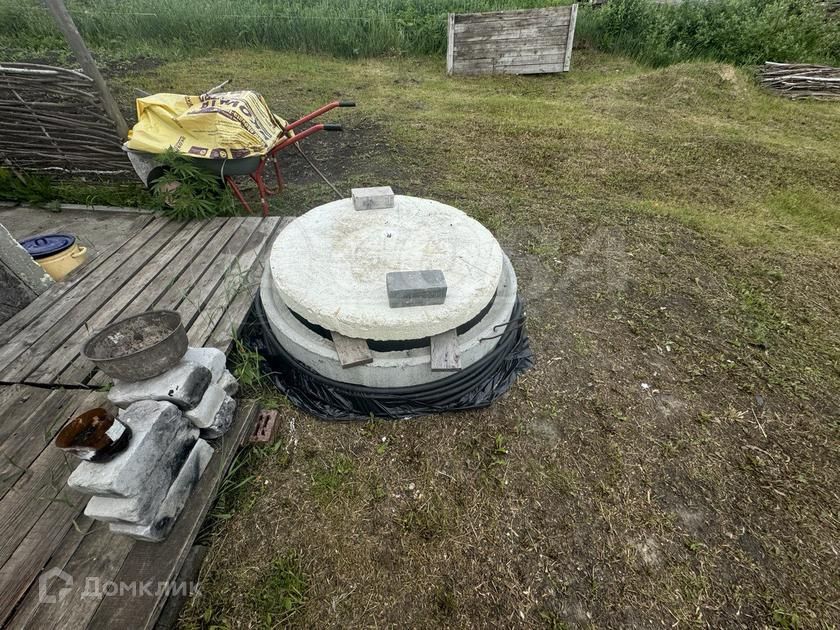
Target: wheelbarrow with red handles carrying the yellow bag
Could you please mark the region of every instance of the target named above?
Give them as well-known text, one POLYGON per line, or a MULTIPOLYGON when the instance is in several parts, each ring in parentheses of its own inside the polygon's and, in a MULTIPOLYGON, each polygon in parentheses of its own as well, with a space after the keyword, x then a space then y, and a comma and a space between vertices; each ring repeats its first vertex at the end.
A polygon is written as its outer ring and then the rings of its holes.
MULTIPOLYGON (((212 91, 218 90, 220 87, 221 86, 217 86, 207 93, 209 94, 212 91)), ((249 214, 253 214, 251 205, 243 196, 242 190, 236 182, 237 177, 249 177, 256 184, 257 190, 259 191, 263 216, 267 216, 269 211, 268 198, 282 191, 285 185, 283 175, 280 172, 280 164, 277 160, 277 154, 280 153, 280 151, 297 144, 304 138, 308 138, 318 132, 342 131, 341 125, 336 123, 317 123, 300 131, 298 131, 298 129, 302 125, 313 121, 319 116, 322 116, 337 107, 355 106, 356 103, 353 101, 333 101, 306 114, 302 118, 286 123, 282 127, 283 133, 278 137, 274 145, 269 147, 268 150, 261 155, 251 155, 241 158, 198 158, 190 157, 189 155, 184 155, 184 157, 218 177, 221 183, 231 189, 234 196, 239 200, 245 210, 249 214), (265 181, 265 173, 269 164, 271 165, 271 168, 273 168, 274 175, 277 180, 276 185, 273 187, 269 187, 265 181)), ((124 149, 127 151, 128 157, 134 165, 138 176, 146 183, 147 186, 151 187, 155 180, 164 173, 164 167, 157 163, 154 154, 128 149, 127 147, 124 147, 124 149)))

